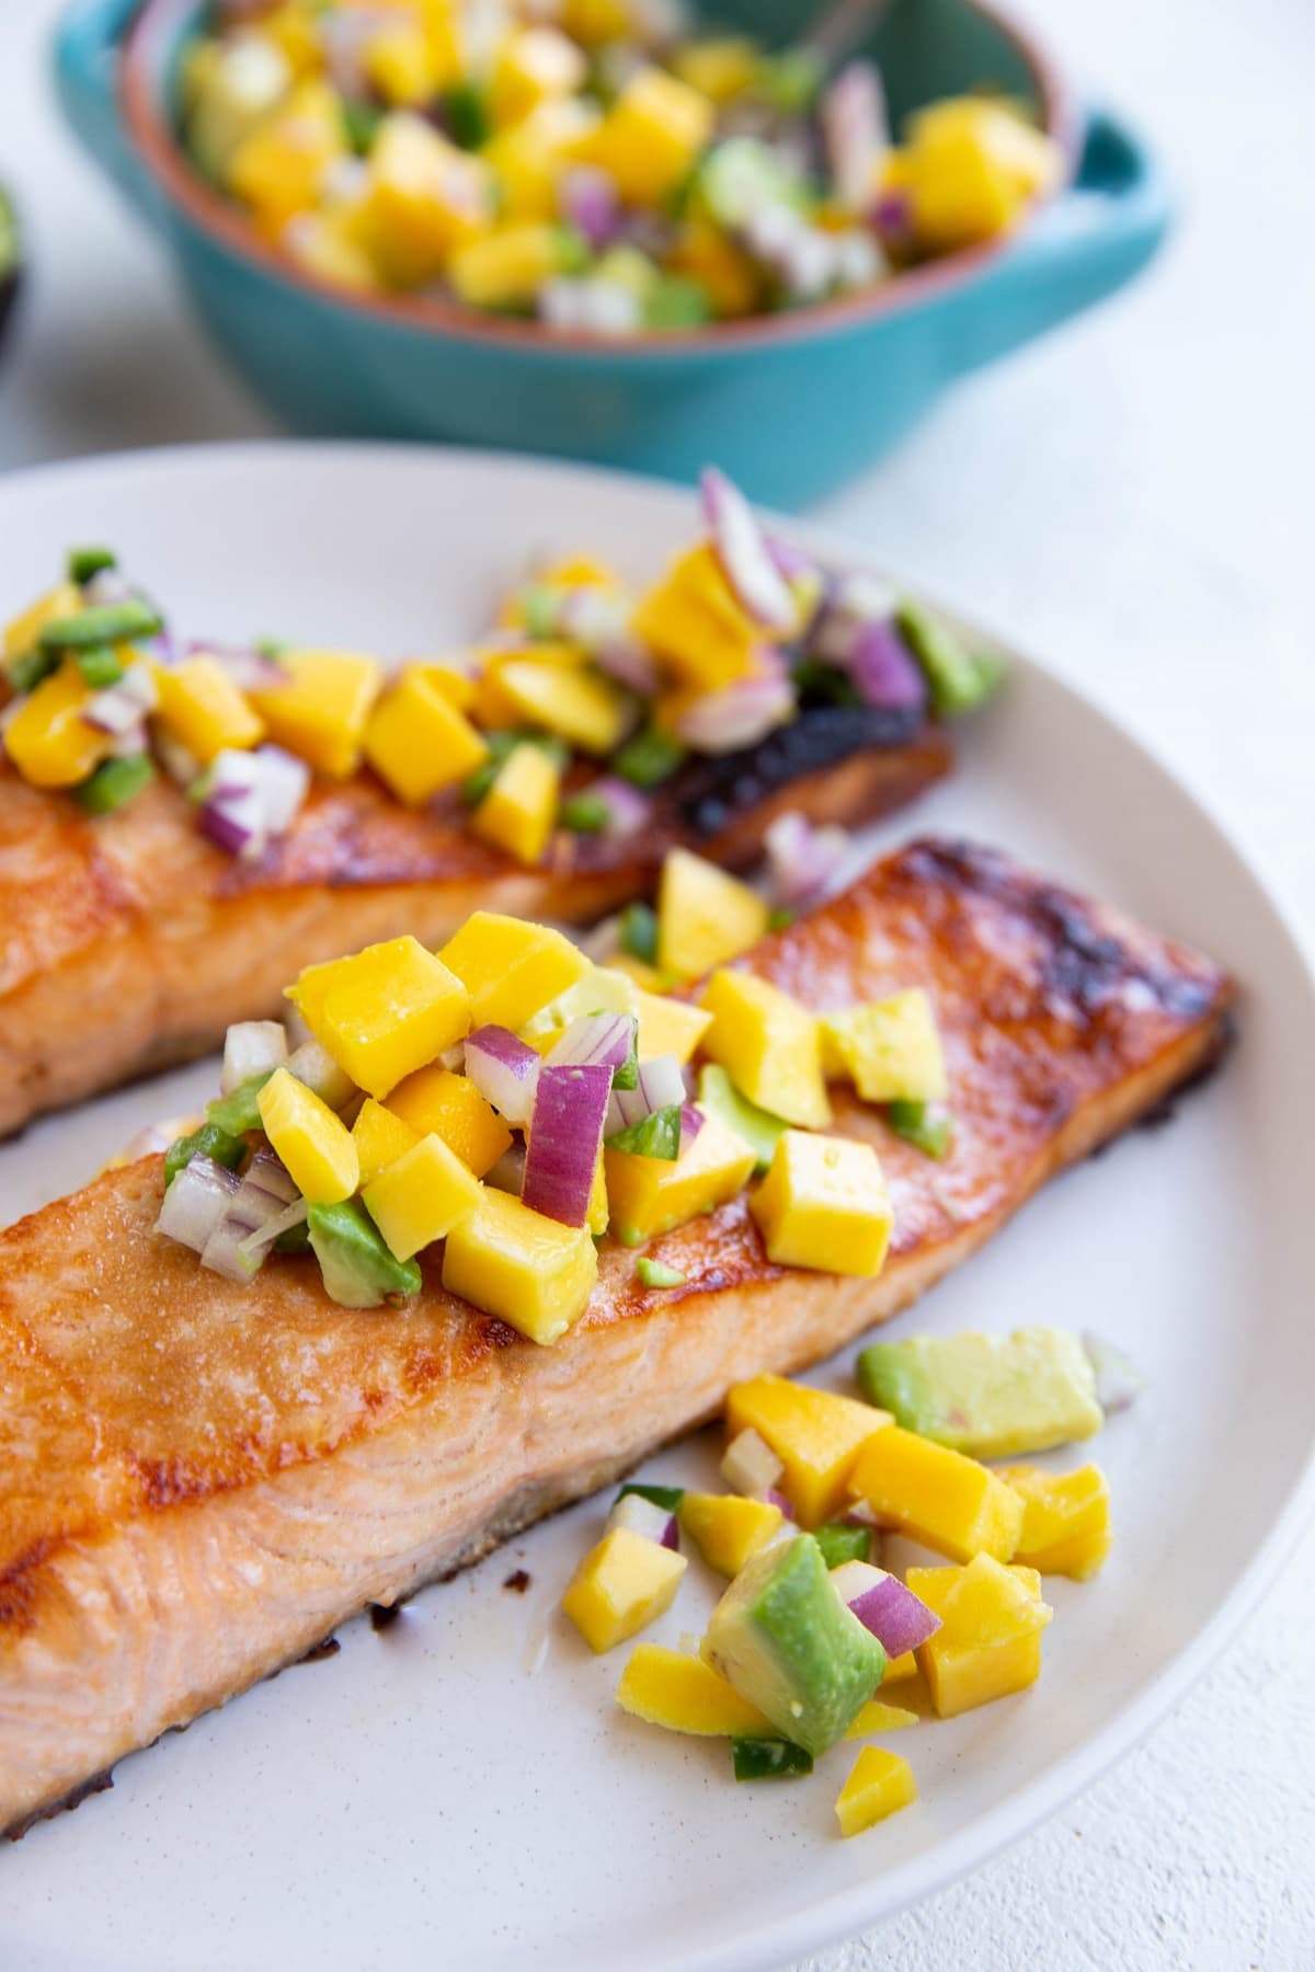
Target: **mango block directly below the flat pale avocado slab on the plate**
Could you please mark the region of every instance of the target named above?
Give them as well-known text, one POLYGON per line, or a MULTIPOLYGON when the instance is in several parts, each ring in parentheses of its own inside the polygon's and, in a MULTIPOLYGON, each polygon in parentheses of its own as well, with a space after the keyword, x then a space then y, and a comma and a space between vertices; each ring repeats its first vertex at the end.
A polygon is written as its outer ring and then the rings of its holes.
POLYGON ((850 1491, 885 1524, 956 1562, 1007 1562, 1023 1532, 1023 1501, 1004 1479, 897 1424, 864 1447, 850 1491))

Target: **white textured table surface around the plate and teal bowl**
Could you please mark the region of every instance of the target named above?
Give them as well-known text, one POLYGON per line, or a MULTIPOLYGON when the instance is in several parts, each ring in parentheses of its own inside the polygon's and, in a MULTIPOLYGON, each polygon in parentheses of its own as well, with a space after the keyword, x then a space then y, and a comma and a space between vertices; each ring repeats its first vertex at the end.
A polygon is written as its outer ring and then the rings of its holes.
MULTIPOLYGON (((43 75, 55 12, 0 0, 0 176, 35 258, 0 371, 0 467, 272 432, 63 138, 43 75)), ((1155 132, 1179 235, 1134 294, 960 390, 826 519, 1151 738, 1315 943, 1315 8, 1065 0, 1051 26, 1071 71, 1155 132)), ((808 1972, 1309 1972, 1311 1635, 1315 1536, 1116 1773, 808 1972)))

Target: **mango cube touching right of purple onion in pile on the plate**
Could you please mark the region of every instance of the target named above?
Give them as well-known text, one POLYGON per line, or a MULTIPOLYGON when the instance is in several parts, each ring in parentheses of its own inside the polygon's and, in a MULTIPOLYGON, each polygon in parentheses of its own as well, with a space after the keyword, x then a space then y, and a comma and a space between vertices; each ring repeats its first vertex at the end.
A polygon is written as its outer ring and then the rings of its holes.
POLYGON ((942 1619, 936 1635, 919 1645, 917 1658, 933 1706, 944 1720, 1035 1684, 1041 1676, 1041 1633, 1053 1615, 1041 1601, 1035 1568, 1000 1568, 986 1556, 972 1566, 976 1578, 968 1595, 968 1568, 909 1568, 905 1574, 909 1589, 942 1619), (1031 1623, 1017 1619, 1019 1601, 1035 1609, 1031 1623), (986 1637, 972 1627, 982 1623, 986 1637), (1007 1631, 1005 1641, 990 1641, 992 1625, 996 1635, 1007 1631))

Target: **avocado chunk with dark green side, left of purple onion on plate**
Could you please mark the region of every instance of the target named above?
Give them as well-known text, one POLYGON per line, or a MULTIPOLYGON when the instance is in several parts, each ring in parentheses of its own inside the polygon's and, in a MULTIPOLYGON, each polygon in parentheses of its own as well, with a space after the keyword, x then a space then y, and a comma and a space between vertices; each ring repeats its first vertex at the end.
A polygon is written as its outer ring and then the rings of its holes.
POLYGON ((814 1757, 844 1735, 885 1674, 885 1651, 840 1601, 812 1534, 763 1548, 735 1576, 702 1655, 814 1757))

